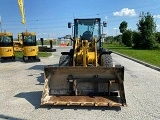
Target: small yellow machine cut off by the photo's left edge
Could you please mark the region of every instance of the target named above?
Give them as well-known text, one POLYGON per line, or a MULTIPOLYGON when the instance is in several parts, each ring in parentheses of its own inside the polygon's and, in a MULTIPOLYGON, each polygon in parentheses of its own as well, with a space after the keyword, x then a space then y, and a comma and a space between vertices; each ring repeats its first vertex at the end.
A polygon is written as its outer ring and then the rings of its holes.
POLYGON ((1 62, 15 61, 13 35, 10 32, 0 33, 1 62))

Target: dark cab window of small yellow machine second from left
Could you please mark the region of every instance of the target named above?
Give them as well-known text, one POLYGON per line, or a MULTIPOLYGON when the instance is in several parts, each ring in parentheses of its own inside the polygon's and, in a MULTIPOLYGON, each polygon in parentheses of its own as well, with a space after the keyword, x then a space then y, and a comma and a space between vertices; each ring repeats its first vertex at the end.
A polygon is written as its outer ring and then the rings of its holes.
POLYGON ((25 46, 35 46, 36 36, 23 36, 23 44, 25 46))

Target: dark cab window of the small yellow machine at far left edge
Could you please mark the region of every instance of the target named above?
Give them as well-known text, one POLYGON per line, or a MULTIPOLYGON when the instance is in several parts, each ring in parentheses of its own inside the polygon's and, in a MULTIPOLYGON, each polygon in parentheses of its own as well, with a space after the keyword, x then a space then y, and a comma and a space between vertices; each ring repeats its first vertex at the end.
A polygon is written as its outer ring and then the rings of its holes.
POLYGON ((13 46, 12 36, 0 36, 0 46, 13 46))

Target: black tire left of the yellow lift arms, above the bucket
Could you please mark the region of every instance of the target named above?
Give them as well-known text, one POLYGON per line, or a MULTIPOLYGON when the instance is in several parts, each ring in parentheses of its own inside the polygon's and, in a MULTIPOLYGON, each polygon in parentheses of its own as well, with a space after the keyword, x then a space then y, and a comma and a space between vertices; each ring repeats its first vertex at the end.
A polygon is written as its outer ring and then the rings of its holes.
POLYGON ((70 66, 71 57, 69 55, 61 55, 59 59, 59 66, 70 66))

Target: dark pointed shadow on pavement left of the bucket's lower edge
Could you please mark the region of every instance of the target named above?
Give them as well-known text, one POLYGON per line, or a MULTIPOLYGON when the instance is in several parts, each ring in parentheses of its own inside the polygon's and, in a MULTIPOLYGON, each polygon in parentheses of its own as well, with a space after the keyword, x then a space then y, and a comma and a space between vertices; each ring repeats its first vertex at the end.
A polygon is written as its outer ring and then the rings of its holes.
POLYGON ((31 103, 35 109, 40 107, 42 91, 34 92, 21 92, 14 97, 25 98, 29 103, 31 103))

